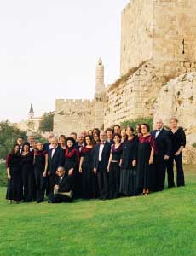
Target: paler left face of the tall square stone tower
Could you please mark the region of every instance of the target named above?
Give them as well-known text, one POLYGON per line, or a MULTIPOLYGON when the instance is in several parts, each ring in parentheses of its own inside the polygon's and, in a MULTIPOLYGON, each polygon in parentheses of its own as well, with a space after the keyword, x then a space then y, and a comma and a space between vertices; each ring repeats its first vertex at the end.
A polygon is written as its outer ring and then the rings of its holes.
POLYGON ((153 1, 131 0, 121 19, 121 75, 152 56, 153 1))

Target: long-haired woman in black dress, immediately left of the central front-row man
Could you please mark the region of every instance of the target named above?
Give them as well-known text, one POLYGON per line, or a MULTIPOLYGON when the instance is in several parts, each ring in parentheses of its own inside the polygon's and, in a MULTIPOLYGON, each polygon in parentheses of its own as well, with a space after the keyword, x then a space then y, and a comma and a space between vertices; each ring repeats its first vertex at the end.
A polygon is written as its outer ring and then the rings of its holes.
POLYGON ((82 173, 83 198, 90 199, 90 198, 95 198, 95 191, 93 191, 94 145, 93 145, 92 137, 89 135, 84 137, 84 142, 85 142, 85 146, 81 149, 79 172, 82 173))

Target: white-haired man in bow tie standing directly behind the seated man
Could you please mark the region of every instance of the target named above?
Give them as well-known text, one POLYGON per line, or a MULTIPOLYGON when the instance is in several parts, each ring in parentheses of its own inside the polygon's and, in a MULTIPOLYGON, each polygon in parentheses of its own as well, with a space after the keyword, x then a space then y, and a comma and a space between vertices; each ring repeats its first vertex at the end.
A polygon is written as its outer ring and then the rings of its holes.
POLYGON ((58 145, 58 140, 51 139, 51 148, 49 149, 49 202, 53 196, 55 187, 56 170, 59 166, 64 166, 65 156, 63 149, 58 145))

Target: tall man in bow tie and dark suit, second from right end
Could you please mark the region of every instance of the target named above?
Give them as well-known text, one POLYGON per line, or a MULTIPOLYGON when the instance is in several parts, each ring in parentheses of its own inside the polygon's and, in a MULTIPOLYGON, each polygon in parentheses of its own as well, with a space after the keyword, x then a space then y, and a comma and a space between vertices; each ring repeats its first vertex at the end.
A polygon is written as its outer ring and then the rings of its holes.
POLYGON ((156 130, 152 132, 155 137, 158 153, 154 154, 153 164, 155 169, 155 190, 164 190, 166 163, 171 154, 171 140, 168 131, 163 128, 163 120, 156 120, 156 130))

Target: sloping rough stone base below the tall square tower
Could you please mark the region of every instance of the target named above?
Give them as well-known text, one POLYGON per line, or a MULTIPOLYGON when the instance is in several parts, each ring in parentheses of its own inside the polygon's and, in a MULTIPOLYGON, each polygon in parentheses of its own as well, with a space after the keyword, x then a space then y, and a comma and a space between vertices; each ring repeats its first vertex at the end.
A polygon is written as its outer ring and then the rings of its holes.
POLYGON ((104 126, 124 120, 151 117, 161 87, 182 73, 195 71, 196 63, 146 61, 120 83, 107 90, 104 126))

